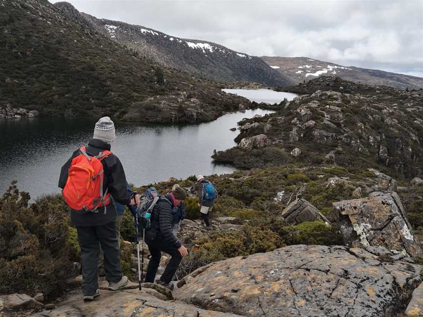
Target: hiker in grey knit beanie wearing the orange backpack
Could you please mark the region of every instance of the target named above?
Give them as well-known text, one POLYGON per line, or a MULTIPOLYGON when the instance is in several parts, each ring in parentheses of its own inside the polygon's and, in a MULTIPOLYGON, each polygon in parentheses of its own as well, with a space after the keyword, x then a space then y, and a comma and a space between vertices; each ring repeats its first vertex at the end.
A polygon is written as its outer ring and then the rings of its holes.
POLYGON ((139 196, 127 191, 123 166, 110 152, 115 139, 115 125, 109 117, 95 124, 94 137, 87 147, 73 152, 63 165, 59 187, 71 207, 71 221, 78 232, 81 247, 84 301, 99 295, 97 264, 99 246, 104 252, 104 268, 110 290, 128 283, 120 267, 116 208, 119 204, 138 204, 139 196))

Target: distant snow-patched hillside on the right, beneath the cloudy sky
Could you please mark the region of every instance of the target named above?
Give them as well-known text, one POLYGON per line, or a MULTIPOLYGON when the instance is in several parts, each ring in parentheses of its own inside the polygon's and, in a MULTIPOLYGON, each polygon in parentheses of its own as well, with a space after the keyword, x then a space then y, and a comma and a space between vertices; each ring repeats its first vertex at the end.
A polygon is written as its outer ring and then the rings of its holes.
POLYGON ((261 57, 270 67, 279 70, 282 76, 300 83, 321 75, 336 75, 346 80, 369 85, 385 85, 401 90, 423 88, 423 78, 396 74, 377 69, 346 67, 322 62, 308 57, 261 57))

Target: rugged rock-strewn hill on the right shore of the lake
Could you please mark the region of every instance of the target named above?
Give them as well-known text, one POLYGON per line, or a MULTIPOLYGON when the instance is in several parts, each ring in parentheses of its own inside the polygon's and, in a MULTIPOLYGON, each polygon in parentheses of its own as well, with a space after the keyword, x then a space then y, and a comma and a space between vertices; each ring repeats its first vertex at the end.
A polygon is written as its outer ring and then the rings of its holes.
MULTIPOLYGON (((302 149, 298 160, 310 164, 330 162, 347 168, 383 164, 395 177, 423 179, 423 90, 379 89, 335 77, 313 79, 291 90, 301 95, 282 102, 276 113, 243 120, 245 129, 240 128, 235 141, 264 133, 287 154, 302 149)), ((383 181, 384 190, 396 190, 395 181, 383 181)))

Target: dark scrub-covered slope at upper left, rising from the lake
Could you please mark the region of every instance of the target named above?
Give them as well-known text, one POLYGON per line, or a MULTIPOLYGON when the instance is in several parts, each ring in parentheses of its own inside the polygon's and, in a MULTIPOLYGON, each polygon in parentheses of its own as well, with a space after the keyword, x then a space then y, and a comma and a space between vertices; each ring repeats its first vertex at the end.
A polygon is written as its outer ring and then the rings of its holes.
POLYGON ((211 81, 159 68, 77 15, 47 0, 0 1, 0 108, 197 122, 245 102, 211 81))

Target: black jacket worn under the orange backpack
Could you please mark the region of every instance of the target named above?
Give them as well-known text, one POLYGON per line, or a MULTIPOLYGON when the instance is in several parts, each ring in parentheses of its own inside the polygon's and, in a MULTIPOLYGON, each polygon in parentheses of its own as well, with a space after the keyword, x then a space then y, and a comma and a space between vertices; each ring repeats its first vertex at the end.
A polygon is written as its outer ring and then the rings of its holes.
MULTIPOLYGON (((96 156, 103 150, 110 151, 110 144, 99 139, 90 139, 86 150, 88 154, 96 156)), ((62 166, 59 178, 60 188, 63 189, 65 187, 66 181, 68 180, 71 161, 79 154, 80 152, 78 149, 73 152, 71 158, 62 166)), ((116 202, 120 204, 130 204, 131 198, 126 189, 126 176, 119 158, 111 154, 107 158, 104 158, 101 163, 104 169, 103 192, 108 189, 108 192, 116 202)), ((116 209, 114 204, 110 203, 106 206, 106 214, 104 214, 103 210, 103 207, 100 207, 98 213, 89 212, 86 214, 79 214, 72 210, 71 221, 75 226, 101 226, 116 221, 116 209)))

